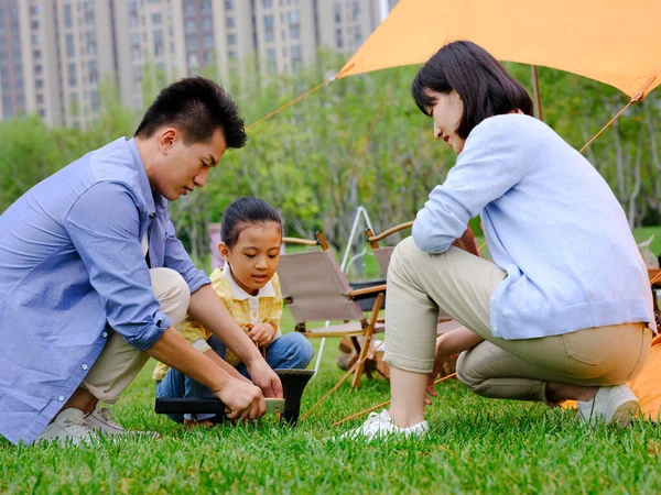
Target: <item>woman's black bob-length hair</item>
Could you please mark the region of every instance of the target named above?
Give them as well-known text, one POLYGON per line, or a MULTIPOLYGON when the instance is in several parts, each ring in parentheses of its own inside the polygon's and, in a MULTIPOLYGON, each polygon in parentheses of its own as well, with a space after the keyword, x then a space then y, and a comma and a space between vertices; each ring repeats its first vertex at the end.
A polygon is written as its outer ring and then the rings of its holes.
POLYGON ((448 43, 436 52, 415 76, 411 92, 425 116, 436 101, 424 90, 448 94, 453 89, 464 102, 457 128, 462 139, 483 120, 521 110, 532 116, 532 100, 486 50, 468 41, 448 43))

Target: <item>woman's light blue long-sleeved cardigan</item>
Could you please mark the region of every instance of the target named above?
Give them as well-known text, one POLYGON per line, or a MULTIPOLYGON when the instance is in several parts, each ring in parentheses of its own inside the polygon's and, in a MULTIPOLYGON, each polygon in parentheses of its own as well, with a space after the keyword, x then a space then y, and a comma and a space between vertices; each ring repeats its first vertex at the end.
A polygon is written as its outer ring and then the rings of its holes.
POLYGON ((590 163, 539 120, 480 122, 413 224, 415 244, 443 253, 480 216, 507 272, 490 300, 491 332, 531 339, 649 322, 647 268, 622 208, 590 163))

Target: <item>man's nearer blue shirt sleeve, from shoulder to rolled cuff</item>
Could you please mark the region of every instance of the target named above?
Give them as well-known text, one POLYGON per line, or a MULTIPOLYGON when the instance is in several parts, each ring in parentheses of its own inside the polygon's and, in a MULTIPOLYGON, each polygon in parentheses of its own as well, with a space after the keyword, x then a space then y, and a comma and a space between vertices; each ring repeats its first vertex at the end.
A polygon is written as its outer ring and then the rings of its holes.
POLYGON ((154 297, 130 188, 121 183, 94 185, 68 211, 64 227, 110 327, 134 348, 150 349, 171 321, 154 297))

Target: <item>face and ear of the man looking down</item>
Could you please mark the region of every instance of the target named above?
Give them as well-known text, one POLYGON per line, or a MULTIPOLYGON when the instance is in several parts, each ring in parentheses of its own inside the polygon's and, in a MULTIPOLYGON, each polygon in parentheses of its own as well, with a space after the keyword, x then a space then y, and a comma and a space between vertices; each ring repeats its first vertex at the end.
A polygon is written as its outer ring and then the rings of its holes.
POLYGON ((208 143, 186 145, 177 130, 166 128, 161 131, 159 148, 160 160, 150 183, 163 197, 174 201, 205 185, 209 170, 227 150, 227 143, 223 132, 216 130, 208 143))

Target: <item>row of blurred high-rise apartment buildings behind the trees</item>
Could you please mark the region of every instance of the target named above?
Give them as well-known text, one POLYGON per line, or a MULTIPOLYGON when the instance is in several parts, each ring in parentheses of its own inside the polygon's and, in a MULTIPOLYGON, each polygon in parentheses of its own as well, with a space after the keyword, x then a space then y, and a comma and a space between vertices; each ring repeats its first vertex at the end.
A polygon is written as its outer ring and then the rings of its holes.
POLYGON ((0 112, 86 127, 109 80, 143 109, 186 75, 225 78, 253 56, 260 80, 317 48, 355 52, 397 0, 0 0, 0 112))

